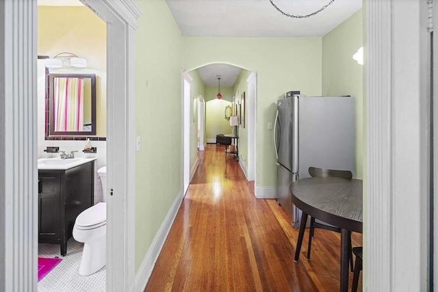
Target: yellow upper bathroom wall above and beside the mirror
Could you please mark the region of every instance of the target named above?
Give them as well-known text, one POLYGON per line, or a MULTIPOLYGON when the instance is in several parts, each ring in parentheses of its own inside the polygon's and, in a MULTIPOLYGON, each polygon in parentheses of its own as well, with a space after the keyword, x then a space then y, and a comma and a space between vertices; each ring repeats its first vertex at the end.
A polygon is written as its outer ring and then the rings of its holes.
POLYGON ((38 55, 54 57, 69 52, 88 62, 87 68, 64 67, 50 72, 96 75, 98 137, 106 137, 106 48, 106 24, 89 8, 38 6, 38 55))

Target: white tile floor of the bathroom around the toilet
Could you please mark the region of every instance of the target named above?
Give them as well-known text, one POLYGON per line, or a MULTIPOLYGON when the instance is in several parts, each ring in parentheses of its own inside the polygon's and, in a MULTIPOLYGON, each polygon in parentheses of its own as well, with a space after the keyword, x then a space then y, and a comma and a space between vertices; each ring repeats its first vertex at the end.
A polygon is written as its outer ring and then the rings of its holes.
MULTIPOLYGON (((106 287, 105 267, 90 276, 79 275, 83 243, 70 238, 67 254, 47 276, 38 282, 38 292, 101 292, 106 287)), ((39 243, 38 256, 60 256, 60 245, 39 243)), ((60 256, 61 257, 61 256, 60 256)))

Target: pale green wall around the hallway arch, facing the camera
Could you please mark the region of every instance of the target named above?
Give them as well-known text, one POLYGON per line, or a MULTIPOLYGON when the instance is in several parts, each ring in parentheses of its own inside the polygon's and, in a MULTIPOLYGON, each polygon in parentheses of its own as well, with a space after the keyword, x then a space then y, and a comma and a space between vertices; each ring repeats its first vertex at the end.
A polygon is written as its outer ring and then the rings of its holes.
POLYGON ((276 100, 288 90, 322 92, 322 38, 183 37, 183 68, 225 63, 257 71, 257 185, 276 185, 273 132, 276 100))

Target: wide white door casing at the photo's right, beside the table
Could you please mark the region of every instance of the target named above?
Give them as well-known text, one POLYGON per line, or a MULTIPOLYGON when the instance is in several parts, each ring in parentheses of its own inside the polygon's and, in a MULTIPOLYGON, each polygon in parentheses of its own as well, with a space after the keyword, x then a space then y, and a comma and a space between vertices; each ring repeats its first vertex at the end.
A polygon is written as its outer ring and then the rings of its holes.
POLYGON ((367 1, 363 291, 427 291, 421 1, 367 1), (407 231, 409 230, 409 231, 407 231), (423 241, 423 242, 422 242, 423 241))

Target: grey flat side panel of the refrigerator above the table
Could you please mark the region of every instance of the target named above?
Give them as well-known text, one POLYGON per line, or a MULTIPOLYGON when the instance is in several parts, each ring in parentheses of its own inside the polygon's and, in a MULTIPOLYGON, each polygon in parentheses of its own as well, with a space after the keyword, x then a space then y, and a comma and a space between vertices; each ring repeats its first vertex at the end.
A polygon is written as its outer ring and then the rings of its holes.
POLYGON ((300 97, 300 178, 309 166, 354 173, 354 99, 352 97, 300 97))

